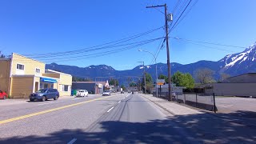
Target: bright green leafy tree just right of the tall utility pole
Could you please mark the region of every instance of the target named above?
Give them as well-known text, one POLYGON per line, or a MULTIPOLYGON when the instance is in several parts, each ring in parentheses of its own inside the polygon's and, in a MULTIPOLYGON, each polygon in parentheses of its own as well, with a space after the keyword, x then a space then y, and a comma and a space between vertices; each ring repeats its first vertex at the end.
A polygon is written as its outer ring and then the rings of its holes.
POLYGON ((171 77, 171 80, 175 83, 176 86, 183 86, 189 89, 194 88, 194 78, 189 73, 182 74, 181 72, 177 71, 171 77))

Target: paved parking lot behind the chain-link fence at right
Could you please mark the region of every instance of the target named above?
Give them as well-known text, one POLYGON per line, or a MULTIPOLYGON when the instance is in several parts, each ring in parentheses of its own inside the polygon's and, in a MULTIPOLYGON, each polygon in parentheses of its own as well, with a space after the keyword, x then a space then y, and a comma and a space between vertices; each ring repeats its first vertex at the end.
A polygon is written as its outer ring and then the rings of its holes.
POLYGON ((256 98, 226 97, 216 98, 218 113, 238 114, 247 118, 256 118, 256 98))

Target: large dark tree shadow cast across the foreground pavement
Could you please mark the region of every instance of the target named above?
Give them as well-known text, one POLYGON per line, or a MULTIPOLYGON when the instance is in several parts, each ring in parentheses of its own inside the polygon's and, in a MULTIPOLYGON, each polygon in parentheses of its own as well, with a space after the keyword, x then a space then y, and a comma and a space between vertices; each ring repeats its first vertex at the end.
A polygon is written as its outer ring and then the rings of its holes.
POLYGON ((0 143, 66 143, 73 138, 77 138, 75 143, 254 143, 255 134, 255 118, 190 114, 148 122, 105 121, 86 130, 66 129, 46 136, 2 138, 0 143))

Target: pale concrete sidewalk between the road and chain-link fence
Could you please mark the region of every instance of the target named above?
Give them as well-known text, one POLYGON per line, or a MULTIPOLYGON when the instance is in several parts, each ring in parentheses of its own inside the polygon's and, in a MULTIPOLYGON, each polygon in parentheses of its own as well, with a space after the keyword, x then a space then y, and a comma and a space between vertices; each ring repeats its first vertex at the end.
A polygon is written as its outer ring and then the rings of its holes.
POLYGON ((181 106, 175 102, 169 102, 166 99, 153 97, 152 94, 141 94, 142 97, 149 99, 156 105, 162 107, 163 109, 174 115, 188 115, 188 114, 203 114, 202 111, 194 110, 186 106, 181 106))

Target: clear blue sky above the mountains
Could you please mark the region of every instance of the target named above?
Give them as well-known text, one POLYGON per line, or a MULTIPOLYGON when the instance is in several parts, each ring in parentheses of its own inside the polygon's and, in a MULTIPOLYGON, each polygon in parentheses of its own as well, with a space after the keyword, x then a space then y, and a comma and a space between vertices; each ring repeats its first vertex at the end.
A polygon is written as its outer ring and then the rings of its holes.
MULTIPOLYGON (((144 61, 146 65, 152 64, 152 55, 139 52, 138 49, 155 53, 161 39, 143 46, 131 46, 129 50, 118 53, 106 52, 130 46, 127 43, 161 38, 164 36, 163 29, 118 44, 126 46, 88 50, 90 46, 128 38, 164 26, 164 15, 161 13, 164 9, 146 9, 146 6, 165 2, 168 12, 174 12, 177 4, 175 0, 1 0, 0 50, 6 55, 12 52, 34 54, 31 57, 42 62, 82 67, 106 64, 116 70, 128 70, 138 66, 138 61, 144 61), (59 52, 66 51, 70 52, 58 55, 59 52), (55 52, 58 53, 48 54, 55 52), (85 56, 88 54, 92 55, 85 56)), ((186 1, 181 1, 176 8, 174 20, 178 18, 182 2, 186 1)), ((192 0, 191 4, 194 2, 196 0, 192 0)), ((199 0, 170 32, 170 37, 250 46, 256 42, 255 6, 255 0, 199 0)), ((226 46, 204 47, 170 38, 170 61, 182 64, 199 60, 218 61, 226 54, 242 50, 244 49, 226 46)), ((160 50, 157 62, 166 63, 166 47, 160 50)))

